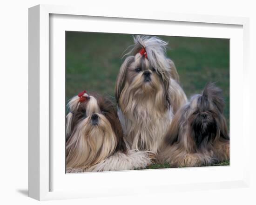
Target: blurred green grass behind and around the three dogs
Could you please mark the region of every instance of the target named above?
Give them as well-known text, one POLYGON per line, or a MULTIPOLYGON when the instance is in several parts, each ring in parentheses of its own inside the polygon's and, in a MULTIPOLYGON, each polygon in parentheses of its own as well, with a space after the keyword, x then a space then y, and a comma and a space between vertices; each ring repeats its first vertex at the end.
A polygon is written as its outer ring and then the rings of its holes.
MULTIPOLYGON (((200 93, 207 82, 216 82, 223 90, 229 126, 229 39, 158 37, 169 42, 167 56, 174 61, 188 98, 200 93)), ((82 90, 114 100, 122 54, 133 44, 130 34, 66 32, 66 101, 82 90)))

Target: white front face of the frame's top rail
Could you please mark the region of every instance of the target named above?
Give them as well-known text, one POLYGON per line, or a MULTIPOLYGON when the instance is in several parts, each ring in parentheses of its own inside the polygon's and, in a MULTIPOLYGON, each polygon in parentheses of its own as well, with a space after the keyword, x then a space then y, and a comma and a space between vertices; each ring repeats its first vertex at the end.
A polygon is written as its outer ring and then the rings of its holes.
POLYGON ((44 6, 48 13, 61 15, 81 15, 81 16, 95 16, 95 17, 110 17, 110 18, 128 18, 128 19, 145 19, 145 20, 164 20, 164 21, 178 21, 178 22, 192 22, 192 23, 212 23, 212 24, 232 24, 243 25, 247 17, 236 16, 218 16, 207 14, 193 14, 193 13, 172 13, 172 12, 157 12, 143 13, 140 11, 127 12, 125 10, 115 10, 109 12, 101 7, 79 7, 71 5, 49 5, 40 4, 44 6))

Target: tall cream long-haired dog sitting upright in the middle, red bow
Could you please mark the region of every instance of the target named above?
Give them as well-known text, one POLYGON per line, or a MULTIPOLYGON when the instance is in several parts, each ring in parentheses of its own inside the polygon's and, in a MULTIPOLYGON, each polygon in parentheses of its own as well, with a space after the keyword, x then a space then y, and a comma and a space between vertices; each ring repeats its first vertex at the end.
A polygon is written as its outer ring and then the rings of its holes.
POLYGON ((156 154, 187 97, 174 63, 166 57, 167 43, 152 36, 136 36, 134 41, 115 85, 118 115, 129 146, 156 154))

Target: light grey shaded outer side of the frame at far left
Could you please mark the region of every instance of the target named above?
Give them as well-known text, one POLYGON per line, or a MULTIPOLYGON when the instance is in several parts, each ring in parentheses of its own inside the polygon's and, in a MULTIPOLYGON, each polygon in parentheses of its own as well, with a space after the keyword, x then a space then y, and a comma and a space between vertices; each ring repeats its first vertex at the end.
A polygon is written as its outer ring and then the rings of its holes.
POLYGON ((28 196, 40 198, 40 6, 28 13, 28 196))

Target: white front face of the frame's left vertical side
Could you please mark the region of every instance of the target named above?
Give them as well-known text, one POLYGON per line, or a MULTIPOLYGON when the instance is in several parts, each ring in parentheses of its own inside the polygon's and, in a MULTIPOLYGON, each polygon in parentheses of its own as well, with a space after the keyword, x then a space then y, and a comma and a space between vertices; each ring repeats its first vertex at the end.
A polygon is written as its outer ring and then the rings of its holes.
POLYGON ((49 194, 49 12, 40 5, 40 200, 49 194))

